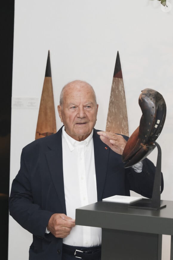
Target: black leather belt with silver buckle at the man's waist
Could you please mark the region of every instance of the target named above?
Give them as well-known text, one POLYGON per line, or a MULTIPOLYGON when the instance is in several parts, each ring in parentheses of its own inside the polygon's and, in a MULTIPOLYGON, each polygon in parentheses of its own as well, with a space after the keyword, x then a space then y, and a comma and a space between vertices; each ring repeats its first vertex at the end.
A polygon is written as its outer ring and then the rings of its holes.
POLYGON ((72 247, 63 244, 63 253, 72 255, 78 259, 95 260, 101 257, 101 246, 99 247, 72 247))

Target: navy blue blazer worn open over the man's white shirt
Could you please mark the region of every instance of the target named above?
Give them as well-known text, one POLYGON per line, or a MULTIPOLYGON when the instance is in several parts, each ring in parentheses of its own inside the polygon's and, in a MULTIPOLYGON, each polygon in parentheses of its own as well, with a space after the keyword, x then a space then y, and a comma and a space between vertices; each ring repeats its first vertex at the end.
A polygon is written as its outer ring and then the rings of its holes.
MULTIPOLYGON (((98 201, 113 195, 130 195, 130 190, 151 198, 153 163, 144 159, 141 173, 131 167, 124 169, 121 155, 109 147, 105 149, 97 131, 94 129, 93 143, 98 201)), ((66 214, 61 134, 62 127, 56 134, 24 147, 21 167, 12 183, 10 215, 33 234, 30 260, 60 260, 62 256, 62 238, 45 234, 52 214, 66 214)))

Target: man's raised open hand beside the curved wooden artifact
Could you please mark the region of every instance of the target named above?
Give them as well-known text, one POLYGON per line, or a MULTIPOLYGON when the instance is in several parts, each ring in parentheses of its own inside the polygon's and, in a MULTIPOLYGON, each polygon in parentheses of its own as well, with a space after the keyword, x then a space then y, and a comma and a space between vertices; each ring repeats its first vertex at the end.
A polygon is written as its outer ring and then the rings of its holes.
POLYGON ((97 132, 102 142, 108 145, 115 153, 122 154, 126 146, 126 140, 121 135, 99 131, 97 132))

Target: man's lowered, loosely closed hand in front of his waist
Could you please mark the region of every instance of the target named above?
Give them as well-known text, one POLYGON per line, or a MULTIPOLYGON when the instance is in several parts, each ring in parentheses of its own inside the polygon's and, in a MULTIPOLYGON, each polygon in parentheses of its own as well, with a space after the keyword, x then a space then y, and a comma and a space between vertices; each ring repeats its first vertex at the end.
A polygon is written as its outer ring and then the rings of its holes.
POLYGON ((65 214, 55 213, 50 217, 47 229, 56 238, 66 238, 75 226, 75 219, 67 217, 65 214))

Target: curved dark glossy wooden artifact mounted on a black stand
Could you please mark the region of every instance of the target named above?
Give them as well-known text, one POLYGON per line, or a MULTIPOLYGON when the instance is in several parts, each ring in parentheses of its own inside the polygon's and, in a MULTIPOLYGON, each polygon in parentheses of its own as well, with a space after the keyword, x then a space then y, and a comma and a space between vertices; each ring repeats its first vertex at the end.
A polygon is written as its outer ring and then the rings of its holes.
POLYGON ((153 89, 142 91, 139 105, 142 110, 140 125, 130 136, 122 154, 125 168, 140 162, 152 152, 154 141, 160 135, 166 118, 165 100, 153 89))

